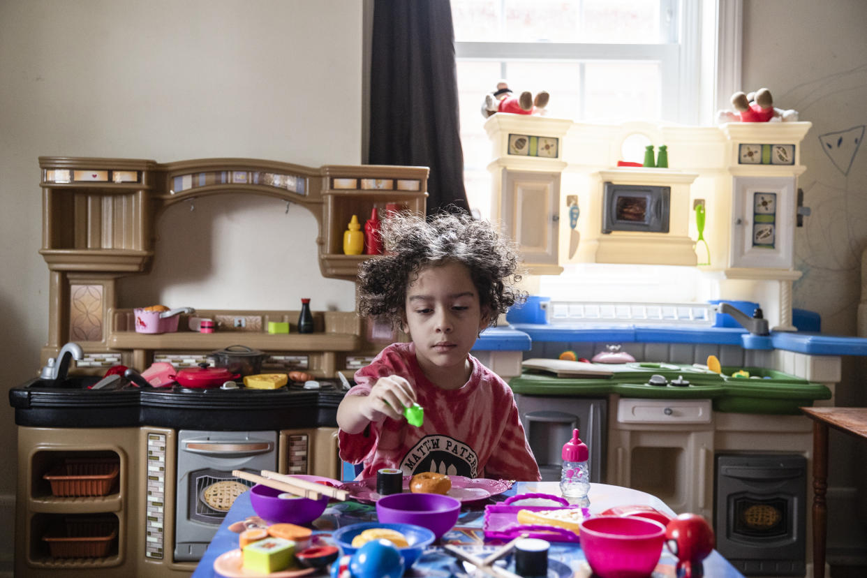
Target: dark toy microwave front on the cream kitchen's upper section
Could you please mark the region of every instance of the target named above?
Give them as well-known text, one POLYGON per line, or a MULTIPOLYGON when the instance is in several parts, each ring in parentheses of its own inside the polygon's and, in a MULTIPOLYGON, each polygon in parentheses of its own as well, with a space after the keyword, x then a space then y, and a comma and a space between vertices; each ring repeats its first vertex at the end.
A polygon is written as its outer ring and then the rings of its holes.
POLYGON ((602 232, 668 232, 671 187, 615 185, 606 182, 603 191, 602 232))

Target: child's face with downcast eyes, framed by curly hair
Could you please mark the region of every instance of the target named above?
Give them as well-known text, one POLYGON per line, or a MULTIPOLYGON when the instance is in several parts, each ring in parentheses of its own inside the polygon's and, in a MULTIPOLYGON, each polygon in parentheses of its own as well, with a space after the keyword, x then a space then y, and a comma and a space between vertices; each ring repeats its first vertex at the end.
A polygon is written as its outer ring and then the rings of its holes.
POLYGON ((463 371, 466 354, 487 324, 479 293, 465 265, 427 267, 407 289, 407 332, 428 378, 463 371))

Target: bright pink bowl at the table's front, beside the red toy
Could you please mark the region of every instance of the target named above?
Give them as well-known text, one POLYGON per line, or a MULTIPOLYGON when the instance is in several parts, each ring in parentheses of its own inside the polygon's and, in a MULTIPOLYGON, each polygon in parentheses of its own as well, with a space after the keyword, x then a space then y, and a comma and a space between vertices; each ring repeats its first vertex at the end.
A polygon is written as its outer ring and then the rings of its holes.
POLYGON ((662 554, 665 526, 639 516, 596 516, 581 523, 578 538, 600 578, 647 578, 662 554))

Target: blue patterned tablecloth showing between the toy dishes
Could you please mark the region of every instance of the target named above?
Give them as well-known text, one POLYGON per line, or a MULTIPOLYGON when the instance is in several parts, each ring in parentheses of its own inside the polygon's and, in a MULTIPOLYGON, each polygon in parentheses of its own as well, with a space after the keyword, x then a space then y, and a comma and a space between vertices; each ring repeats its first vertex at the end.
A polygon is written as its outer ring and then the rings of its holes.
MULTIPOLYGON (((505 499, 508 496, 524 493, 547 493, 558 496, 559 489, 555 482, 518 482, 512 490, 497 497, 497 499, 505 499)), ((618 505, 635 504, 653 506, 656 510, 666 512, 672 516, 674 515, 674 512, 665 503, 642 491, 629 490, 629 488, 621 488, 608 484, 591 484, 590 486, 590 511, 592 513, 599 513, 618 505)), ((462 509, 458 523, 442 537, 441 542, 468 547, 481 546, 485 539, 484 532, 482 531, 482 517, 485 513, 484 506, 485 503, 480 503, 462 509)), ((229 529, 229 525, 255 515, 250 503, 249 492, 244 492, 232 504, 231 510, 226 514, 225 520, 217 530, 217 534, 205 551, 205 555, 199 562, 195 572, 193 572, 192 578, 212 578, 218 576, 214 572, 214 561, 217 560, 219 555, 238 548, 238 534, 232 532, 229 529)), ((353 523, 375 521, 375 519, 376 510, 374 506, 356 503, 352 500, 330 503, 329 507, 324 511, 323 516, 320 516, 313 523, 313 529, 315 530, 314 537, 316 540, 328 541, 331 532, 337 528, 353 523)), ((549 560, 562 562, 565 566, 571 568, 576 576, 584 575, 583 573, 587 569, 583 552, 577 544, 552 542, 549 560)), ((654 572, 654 578, 674 578, 676 562, 675 557, 663 549, 660 563, 654 572)), ((704 568, 707 578, 743 578, 743 575, 715 550, 705 559, 704 568)), ((447 578, 453 575, 462 575, 455 559, 447 555, 440 547, 427 549, 418 562, 415 562, 413 570, 413 576, 419 577, 439 576, 447 578)), ((327 573, 323 572, 316 576, 325 575, 327 573)))

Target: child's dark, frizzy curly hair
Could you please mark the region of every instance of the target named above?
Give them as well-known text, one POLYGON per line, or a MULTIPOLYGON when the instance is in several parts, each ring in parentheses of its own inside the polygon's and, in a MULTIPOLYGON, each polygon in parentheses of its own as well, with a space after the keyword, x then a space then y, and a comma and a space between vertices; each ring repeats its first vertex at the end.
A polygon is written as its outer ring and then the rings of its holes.
POLYGON ((359 265, 358 312, 399 326, 406 315, 407 289, 431 265, 461 263, 470 271, 489 324, 516 302, 524 302, 518 252, 487 221, 466 213, 427 218, 401 212, 384 219, 382 257, 359 265))

